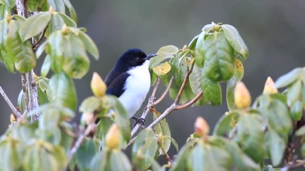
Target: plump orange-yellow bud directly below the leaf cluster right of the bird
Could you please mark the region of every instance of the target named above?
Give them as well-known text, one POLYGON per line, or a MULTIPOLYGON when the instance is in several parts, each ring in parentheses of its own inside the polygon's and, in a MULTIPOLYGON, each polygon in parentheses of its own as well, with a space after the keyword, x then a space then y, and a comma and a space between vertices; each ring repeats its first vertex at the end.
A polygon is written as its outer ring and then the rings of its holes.
POLYGON ((238 82, 234 90, 234 102, 238 108, 246 108, 251 104, 251 95, 243 82, 238 82))

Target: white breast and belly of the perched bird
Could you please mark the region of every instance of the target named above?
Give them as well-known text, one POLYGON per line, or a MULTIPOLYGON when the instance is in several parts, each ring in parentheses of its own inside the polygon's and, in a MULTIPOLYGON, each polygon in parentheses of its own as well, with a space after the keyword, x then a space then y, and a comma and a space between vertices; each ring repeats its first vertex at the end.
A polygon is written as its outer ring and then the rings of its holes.
POLYGON ((142 65, 128 70, 130 76, 126 79, 125 91, 118 100, 125 107, 129 117, 141 107, 150 88, 150 73, 148 70, 149 61, 146 60, 142 65))

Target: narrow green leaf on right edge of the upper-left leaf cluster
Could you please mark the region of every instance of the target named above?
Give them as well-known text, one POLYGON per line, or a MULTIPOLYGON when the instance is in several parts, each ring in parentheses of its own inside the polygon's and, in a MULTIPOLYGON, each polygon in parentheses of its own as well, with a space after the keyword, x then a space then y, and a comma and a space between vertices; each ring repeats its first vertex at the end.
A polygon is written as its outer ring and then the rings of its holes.
POLYGON ((82 42, 85 45, 85 48, 89 51, 89 53, 98 60, 99 58, 99 52, 98 49, 94 43, 94 41, 83 31, 79 31, 79 38, 82 40, 82 42))

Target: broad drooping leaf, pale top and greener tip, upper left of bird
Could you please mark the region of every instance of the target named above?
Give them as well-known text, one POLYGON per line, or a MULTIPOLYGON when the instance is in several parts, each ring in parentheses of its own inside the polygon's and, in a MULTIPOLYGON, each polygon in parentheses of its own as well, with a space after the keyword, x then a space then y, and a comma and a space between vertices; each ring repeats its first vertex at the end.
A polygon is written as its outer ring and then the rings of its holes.
POLYGON ((70 34, 64 42, 64 71, 70 77, 80 79, 88 72, 89 65, 84 43, 75 34, 70 34))

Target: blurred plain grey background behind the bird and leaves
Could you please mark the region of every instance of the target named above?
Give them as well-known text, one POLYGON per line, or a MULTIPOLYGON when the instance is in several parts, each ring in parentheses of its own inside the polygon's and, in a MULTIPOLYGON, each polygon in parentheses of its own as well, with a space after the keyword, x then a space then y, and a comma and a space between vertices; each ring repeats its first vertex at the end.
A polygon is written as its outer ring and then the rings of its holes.
MULTIPOLYGON (((155 53, 164 45, 180 48, 198 33, 203 25, 222 22, 234 25, 246 42, 250 55, 244 62, 243 81, 254 99, 262 92, 267 76, 274 80, 289 70, 305 64, 304 0, 71 0, 79 22, 96 42, 98 61, 91 58, 86 76, 74 80, 78 103, 92 95, 90 79, 93 71, 103 78, 116 59, 127 48, 138 47, 155 53)), ((77 47, 75 47, 77 48, 77 47)), ((43 58, 35 71, 39 73, 43 58)), ((139 82, 140 83, 140 82, 139 82)), ((19 73, 10 73, 0 63, 0 85, 17 104, 21 90, 19 73)), ((224 85, 224 84, 223 84, 224 85)), ((201 106, 175 111, 167 117, 172 136, 181 146, 193 132, 197 116, 203 116, 211 129, 227 111, 225 86, 221 106, 201 106)), ((153 89, 153 88, 151 88, 153 89)), ((159 90, 161 93, 164 86, 159 90)), ((167 97, 157 109, 163 111, 173 100, 167 97)), ((146 101, 144 102, 146 103, 146 101)), ((144 104, 143 104, 144 105, 144 104)), ((0 133, 10 123, 11 110, 0 97, 0 133)), ((137 112, 141 114, 142 109, 137 112)), ((74 121, 79 121, 77 114, 74 121)), ((151 121, 148 115, 146 125, 151 121)), ((133 120, 131 120, 133 124, 133 120)), ((175 154, 174 148, 170 154, 175 154)))

